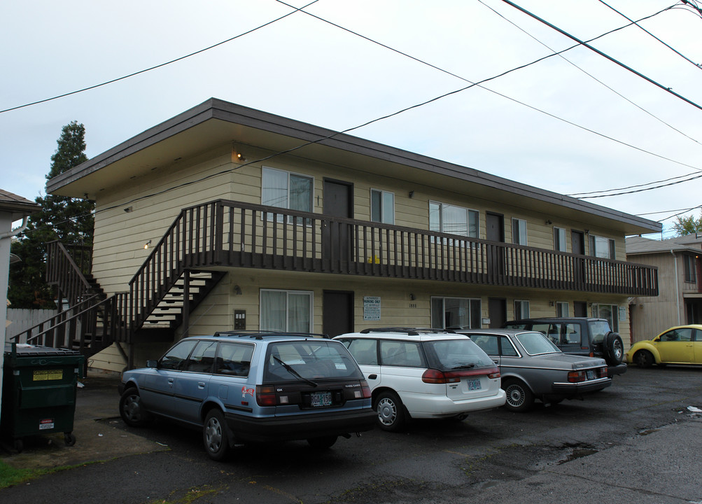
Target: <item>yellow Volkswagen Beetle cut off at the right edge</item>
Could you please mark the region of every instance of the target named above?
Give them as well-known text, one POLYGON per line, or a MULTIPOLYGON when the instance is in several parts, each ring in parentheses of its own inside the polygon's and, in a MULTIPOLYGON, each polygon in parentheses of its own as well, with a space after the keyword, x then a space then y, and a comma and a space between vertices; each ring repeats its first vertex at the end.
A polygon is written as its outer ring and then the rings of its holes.
POLYGON ((652 340, 638 341, 625 359, 642 368, 651 364, 702 364, 702 324, 671 327, 652 340))

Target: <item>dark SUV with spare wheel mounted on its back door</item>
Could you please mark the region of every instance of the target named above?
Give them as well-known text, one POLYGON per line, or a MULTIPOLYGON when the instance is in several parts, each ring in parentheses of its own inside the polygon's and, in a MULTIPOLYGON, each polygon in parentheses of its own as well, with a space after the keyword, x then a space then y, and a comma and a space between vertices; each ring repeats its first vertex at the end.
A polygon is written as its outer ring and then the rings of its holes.
POLYGON ((625 373, 622 364, 624 345, 621 336, 612 332, 606 319, 588 317, 543 317, 511 320, 503 327, 544 333, 562 352, 601 357, 607 362, 607 374, 625 373))

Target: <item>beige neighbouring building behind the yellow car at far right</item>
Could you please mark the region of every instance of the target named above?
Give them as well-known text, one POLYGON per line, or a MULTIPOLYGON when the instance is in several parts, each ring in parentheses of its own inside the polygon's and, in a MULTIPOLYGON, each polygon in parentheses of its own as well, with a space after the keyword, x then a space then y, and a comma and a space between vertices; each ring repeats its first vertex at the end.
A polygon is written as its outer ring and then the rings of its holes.
POLYGON ((702 323, 701 255, 702 237, 697 234, 626 239, 626 257, 657 267, 660 278, 657 297, 630 300, 631 343, 650 340, 672 326, 702 323))

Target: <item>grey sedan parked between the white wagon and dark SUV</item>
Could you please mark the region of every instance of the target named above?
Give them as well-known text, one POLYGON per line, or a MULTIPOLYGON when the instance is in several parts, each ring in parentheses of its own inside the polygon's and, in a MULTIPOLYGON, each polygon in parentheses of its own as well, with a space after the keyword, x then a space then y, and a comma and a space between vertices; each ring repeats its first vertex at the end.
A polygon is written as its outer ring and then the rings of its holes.
POLYGON ((543 333, 513 329, 460 329, 498 366, 505 408, 528 411, 539 399, 557 404, 611 385, 607 363, 597 357, 564 354, 543 333))

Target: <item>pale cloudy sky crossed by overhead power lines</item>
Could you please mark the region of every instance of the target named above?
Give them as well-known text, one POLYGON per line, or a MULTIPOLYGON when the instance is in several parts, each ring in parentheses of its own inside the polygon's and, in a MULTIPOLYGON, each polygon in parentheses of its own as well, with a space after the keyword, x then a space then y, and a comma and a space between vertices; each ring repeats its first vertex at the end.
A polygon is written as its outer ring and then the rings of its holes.
POLYGON ((503 0, 286 1, 3 2, 0 188, 44 194, 72 120, 93 157, 211 97, 338 131, 433 100, 350 134, 562 194, 630 193, 588 201, 661 220, 663 237, 700 215, 689 4, 515 1, 581 41, 648 18, 591 44, 661 88, 583 46, 517 69, 576 42, 503 0))

